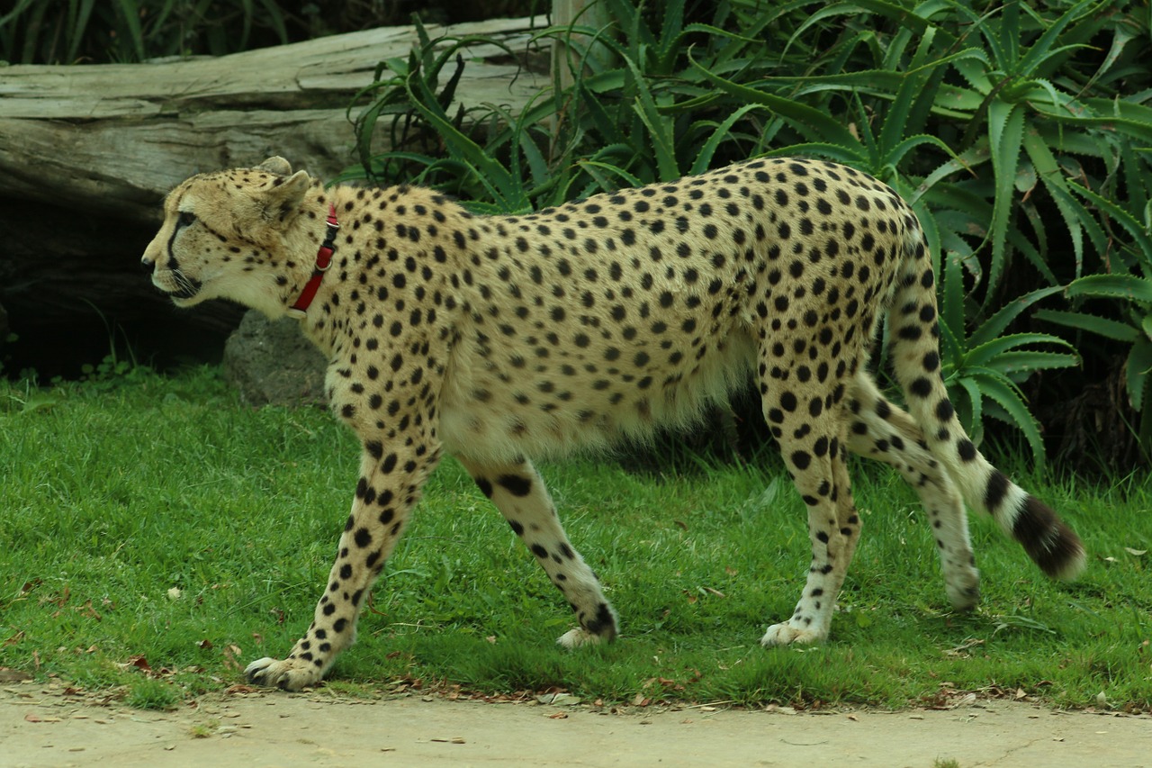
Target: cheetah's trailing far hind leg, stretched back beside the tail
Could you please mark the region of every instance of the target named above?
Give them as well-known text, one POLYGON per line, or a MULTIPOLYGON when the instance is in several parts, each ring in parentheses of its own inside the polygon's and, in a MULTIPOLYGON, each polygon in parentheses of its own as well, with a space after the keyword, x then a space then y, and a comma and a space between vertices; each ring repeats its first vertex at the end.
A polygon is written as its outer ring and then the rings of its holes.
POLYGON ((927 450, 920 428, 866 375, 857 375, 848 409, 848 450, 892 465, 916 490, 932 525, 948 600, 956 610, 973 608, 980 600, 980 574, 964 503, 948 472, 927 450))

